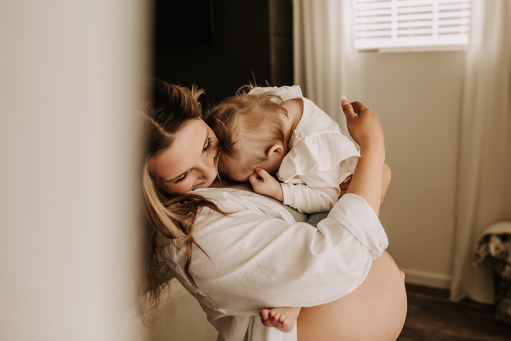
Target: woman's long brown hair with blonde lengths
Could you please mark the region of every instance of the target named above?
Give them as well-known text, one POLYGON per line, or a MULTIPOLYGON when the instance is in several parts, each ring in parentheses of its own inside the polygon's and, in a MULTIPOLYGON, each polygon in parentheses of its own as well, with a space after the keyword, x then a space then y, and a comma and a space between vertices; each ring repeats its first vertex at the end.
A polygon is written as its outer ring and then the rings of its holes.
MULTIPOLYGON (((197 101, 203 90, 195 87, 170 85, 165 81, 153 78, 149 82, 149 101, 143 113, 145 117, 146 162, 142 175, 145 199, 145 216, 147 220, 145 252, 145 278, 141 313, 154 311, 157 307, 161 291, 172 278, 172 272, 162 258, 155 244, 155 235, 183 240, 186 245, 187 262, 184 272, 195 286, 189 272, 192 259, 194 222, 197 214, 204 207, 220 212, 215 203, 204 199, 201 195, 184 193, 168 194, 152 177, 148 170, 148 161, 167 149, 174 141, 175 134, 190 120, 202 117, 202 108, 197 101)), ((202 249, 201 249, 202 250, 202 249)))

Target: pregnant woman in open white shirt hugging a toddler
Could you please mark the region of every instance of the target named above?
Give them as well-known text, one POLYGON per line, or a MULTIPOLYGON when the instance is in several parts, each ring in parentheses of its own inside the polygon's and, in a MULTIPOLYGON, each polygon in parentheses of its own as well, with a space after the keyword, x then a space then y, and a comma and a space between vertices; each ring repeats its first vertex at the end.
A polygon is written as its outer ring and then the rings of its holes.
POLYGON ((377 217, 385 149, 376 114, 343 100, 361 157, 347 194, 316 229, 258 194, 215 181, 219 143, 200 119, 200 92, 158 80, 152 86, 143 179, 156 234, 149 299, 157 299, 170 268, 225 341, 395 340, 406 292, 377 217), (296 334, 262 325, 259 311, 275 306, 304 307, 296 334))

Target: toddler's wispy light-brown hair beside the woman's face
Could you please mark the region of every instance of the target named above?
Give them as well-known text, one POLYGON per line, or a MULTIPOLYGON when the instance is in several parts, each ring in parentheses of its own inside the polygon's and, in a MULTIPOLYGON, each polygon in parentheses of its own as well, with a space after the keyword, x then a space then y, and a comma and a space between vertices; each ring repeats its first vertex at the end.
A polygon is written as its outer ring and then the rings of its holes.
POLYGON ((286 139, 287 111, 274 92, 248 94, 253 85, 241 87, 208 113, 204 121, 219 141, 218 172, 233 180, 246 178, 268 160, 267 152, 286 139))

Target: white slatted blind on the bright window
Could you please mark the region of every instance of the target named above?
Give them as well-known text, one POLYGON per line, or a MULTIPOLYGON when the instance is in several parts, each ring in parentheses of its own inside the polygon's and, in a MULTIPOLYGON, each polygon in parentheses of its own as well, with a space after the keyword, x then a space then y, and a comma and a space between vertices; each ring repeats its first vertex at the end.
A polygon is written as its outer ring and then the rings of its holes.
POLYGON ((352 0, 355 48, 463 46, 470 0, 352 0))

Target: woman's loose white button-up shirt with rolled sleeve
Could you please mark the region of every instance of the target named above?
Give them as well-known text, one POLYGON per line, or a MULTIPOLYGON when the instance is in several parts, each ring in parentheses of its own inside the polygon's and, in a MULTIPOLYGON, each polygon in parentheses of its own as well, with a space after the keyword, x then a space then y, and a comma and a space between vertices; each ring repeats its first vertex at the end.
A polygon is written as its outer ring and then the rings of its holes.
POLYGON ((355 290, 388 240, 373 208, 360 196, 343 195, 317 228, 295 222, 279 204, 239 189, 201 188, 194 193, 234 214, 204 208, 195 227, 190 273, 187 246, 157 237, 158 249, 181 284, 199 301, 225 341, 296 341, 268 328, 259 311, 268 307, 311 307, 355 290), (206 256, 207 254, 207 256, 206 256))

